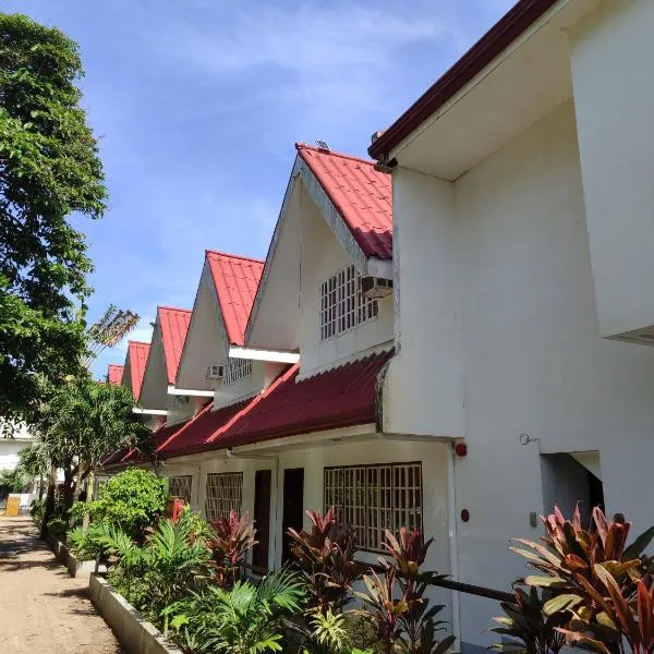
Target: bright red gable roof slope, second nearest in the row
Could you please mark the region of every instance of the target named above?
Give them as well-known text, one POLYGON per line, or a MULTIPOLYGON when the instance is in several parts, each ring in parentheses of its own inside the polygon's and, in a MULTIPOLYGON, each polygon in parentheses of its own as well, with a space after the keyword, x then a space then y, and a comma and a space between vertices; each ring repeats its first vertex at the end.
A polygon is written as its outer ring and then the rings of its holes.
POLYGON ((206 256, 229 342, 242 346, 264 262, 210 250, 206 256))

